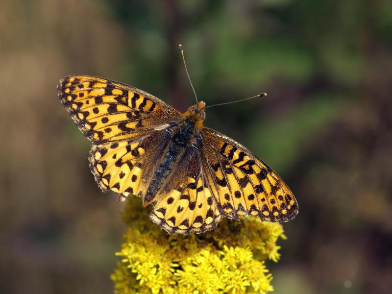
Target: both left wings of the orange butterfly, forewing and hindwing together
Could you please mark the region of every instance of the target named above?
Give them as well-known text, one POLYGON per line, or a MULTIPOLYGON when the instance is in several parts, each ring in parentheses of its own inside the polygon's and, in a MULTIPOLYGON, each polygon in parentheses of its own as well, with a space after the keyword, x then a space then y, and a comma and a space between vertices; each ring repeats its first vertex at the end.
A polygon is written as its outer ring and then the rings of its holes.
POLYGON ((179 113, 137 88, 104 78, 70 75, 57 86, 61 103, 93 142, 90 168, 99 187, 143 195, 179 113))

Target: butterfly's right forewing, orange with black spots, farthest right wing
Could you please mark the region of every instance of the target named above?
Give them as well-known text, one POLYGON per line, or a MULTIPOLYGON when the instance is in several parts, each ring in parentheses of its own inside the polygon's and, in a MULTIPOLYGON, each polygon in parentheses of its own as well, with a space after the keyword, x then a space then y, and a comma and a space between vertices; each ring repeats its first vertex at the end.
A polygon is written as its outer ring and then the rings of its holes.
POLYGON ((203 128, 197 147, 212 194, 226 217, 284 222, 298 213, 289 187, 246 147, 209 128, 203 128))

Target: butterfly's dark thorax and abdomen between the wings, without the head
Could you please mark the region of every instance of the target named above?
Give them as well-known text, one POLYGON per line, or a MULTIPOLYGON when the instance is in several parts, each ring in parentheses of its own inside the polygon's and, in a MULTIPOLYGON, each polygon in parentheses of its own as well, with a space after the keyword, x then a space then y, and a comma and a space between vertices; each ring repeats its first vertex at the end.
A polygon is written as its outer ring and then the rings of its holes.
POLYGON ((155 171, 147 193, 143 199, 144 205, 151 203, 162 187, 163 182, 173 170, 176 162, 181 158, 181 154, 185 152, 190 145, 192 138, 195 136, 195 122, 189 119, 183 120, 173 125, 168 131, 172 132, 172 138, 163 152, 161 162, 155 171))

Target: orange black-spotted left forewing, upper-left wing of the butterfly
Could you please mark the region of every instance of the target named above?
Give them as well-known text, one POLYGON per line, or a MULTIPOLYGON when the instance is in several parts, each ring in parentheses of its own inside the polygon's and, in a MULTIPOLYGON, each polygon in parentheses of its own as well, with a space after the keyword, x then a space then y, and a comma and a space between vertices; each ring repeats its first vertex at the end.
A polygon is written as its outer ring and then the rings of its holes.
POLYGON ((97 144, 141 137, 179 116, 172 106, 142 90, 94 76, 66 76, 57 92, 79 129, 97 144))

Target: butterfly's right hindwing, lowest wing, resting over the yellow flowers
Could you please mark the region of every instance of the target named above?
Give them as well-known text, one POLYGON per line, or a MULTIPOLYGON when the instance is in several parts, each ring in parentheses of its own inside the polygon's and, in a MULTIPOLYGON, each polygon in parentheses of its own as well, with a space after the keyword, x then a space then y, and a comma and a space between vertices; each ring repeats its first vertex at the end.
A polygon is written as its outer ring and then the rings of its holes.
POLYGON ((179 159, 149 216, 171 234, 200 234, 221 220, 195 144, 179 159))

